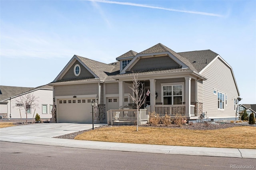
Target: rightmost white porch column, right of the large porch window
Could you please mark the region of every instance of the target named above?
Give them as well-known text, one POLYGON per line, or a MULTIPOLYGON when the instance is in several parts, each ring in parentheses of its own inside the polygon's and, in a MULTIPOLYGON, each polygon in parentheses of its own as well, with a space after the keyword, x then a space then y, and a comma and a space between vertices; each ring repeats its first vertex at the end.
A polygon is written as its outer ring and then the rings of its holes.
POLYGON ((191 77, 185 77, 185 116, 190 117, 191 77))

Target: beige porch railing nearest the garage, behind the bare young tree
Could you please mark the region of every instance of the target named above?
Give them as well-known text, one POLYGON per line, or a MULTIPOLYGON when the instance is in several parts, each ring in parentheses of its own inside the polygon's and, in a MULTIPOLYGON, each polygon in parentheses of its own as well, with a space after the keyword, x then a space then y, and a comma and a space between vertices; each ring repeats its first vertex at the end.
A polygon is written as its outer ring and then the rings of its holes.
MULTIPOLYGON (((136 121, 137 109, 116 109, 107 111, 107 120, 110 125, 113 121, 136 121)), ((139 109, 139 124, 141 121, 148 121, 148 110, 139 109)))

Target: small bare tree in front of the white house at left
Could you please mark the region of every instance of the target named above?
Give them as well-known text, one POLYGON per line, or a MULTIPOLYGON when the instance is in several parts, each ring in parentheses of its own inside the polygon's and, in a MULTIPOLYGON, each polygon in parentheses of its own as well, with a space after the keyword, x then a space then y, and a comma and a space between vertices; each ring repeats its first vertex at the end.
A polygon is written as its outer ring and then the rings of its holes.
POLYGON ((38 107, 38 97, 35 97, 33 93, 26 93, 21 95, 17 100, 18 107, 25 109, 26 123, 28 123, 28 111, 31 112, 32 108, 38 107))

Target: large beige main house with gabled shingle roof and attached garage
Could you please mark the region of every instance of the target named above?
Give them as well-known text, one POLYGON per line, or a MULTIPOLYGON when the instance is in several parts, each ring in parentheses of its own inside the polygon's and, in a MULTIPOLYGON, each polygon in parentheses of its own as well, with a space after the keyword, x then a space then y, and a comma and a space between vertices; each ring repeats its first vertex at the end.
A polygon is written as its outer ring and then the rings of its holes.
MULTIPOLYGON (((57 122, 92 123, 91 101, 106 122, 110 109, 133 106, 133 73, 150 90, 146 105, 159 115, 184 115, 190 120, 202 113, 209 119, 236 117, 240 96, 232 67, 211 50, 176 53, 158 43, 140 53, 128 51, 105 64, 74 55, 56 79, 57 122)), ((120 112, 116 112, 120 113, 120 112)))

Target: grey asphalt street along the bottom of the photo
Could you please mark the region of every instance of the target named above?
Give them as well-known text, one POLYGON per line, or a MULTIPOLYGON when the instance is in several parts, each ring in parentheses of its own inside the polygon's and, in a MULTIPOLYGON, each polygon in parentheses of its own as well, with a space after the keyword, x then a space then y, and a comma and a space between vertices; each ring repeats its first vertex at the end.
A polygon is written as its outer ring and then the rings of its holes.
POLYGON ((225 170, 254 166, 253 158, 123 152, 0 142, 1 170, 225 170))

